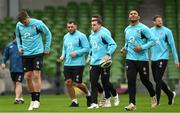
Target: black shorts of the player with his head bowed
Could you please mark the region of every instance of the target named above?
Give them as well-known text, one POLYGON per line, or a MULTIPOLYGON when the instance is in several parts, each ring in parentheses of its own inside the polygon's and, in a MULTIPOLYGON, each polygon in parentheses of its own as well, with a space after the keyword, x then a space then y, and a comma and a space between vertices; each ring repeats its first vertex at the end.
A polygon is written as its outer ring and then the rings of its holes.
POLYGON ((41 70, 43 67, 43 54, 23 56, 22 60, 24 72, 41 70))

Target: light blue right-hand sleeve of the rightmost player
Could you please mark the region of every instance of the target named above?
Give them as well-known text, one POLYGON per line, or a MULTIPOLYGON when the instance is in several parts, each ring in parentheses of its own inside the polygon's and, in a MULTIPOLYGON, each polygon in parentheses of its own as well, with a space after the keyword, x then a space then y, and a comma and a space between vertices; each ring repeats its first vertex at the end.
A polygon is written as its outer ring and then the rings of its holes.
POLYGON ((175 46, 173 34, 172 34, 172 32, 170 30, 167 32, 167 38, 168 38, 169 46, 170 46, 171 51, 172 51, 174 61, 178 62, 179 59, 178 59, 178 55, 177 55, 177 51, 176 51, 176 46, 175 46))

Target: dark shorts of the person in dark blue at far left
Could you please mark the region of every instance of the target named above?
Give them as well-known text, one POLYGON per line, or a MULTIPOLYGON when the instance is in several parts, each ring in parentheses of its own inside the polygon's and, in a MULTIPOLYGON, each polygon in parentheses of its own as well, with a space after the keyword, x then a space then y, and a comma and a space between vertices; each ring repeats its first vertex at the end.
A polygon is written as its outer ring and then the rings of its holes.
POLYGON ((23 72, 11 72, 11 79, 13 82, 22 82, 24 79, 23 72))

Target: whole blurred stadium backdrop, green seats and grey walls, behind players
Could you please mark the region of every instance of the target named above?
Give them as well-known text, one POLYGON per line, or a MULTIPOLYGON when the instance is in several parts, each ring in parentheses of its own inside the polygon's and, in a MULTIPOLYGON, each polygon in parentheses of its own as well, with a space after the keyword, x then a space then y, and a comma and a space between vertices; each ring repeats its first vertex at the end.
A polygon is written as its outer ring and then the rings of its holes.
MULTIPOLYGON (((165 26, 173 31, 174 40, 180 59, 180 0, 0 0, 0 60, 6 45, 12 41, 15 31, 16 16, 21 9, 26 9, 32 18, 43 20, 52 32, 52 46, 49 56, 44 58, 42 92, 52 94, 66 93, 63 67, 56 59, 61 53, 63 35, 67 33, 66 22, 74 18, 78 29, 89 36, 90 18, 101 15, 103 25, 107 27, 118 47, 113 56, 111 81, 119 93, 126 93, 127 80, 125 58, 120 54, 124 46, 124 29, 128 25, 127 17, 131 9, 137 9, 141 22, 152 27, 152 17, 162 15, 165 26)), ((8 67, 8 66, 7 66, 8 67)), ((86 66, 83 80, 89 85, 89 66, 86 66)), ((164 80, 172 90, 180 94, 180 69, 176 69, 172 55, 168 62, 164 80)), ((151 81, 152 76, 151 76, 151 81)), ((23 81, 24 93, 26 90, 23 81)), ((0 69, 0 94, 13 94, 14 86, 8 68, 0 69)), ((147 93, 142 83, 137 81, 137 92, 147 93)))

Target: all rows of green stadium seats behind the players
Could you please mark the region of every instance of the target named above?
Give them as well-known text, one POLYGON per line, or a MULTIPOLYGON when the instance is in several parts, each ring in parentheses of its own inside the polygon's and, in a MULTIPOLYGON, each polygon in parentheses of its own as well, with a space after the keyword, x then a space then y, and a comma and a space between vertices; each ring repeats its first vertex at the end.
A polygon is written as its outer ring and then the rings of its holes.
MULTIPOLYGON (((52 32, 52 51, 50 56, 45 56, 44 75, 54 76, 56 74, 56 59, 61 53, 62 40, 66 30, 66 22, 73 18, 78 22, 78 29, 90 34, 90 18, 92 15, 102 15, 104 26, 107 27, 118 47, 113 56, 111 69, 111 81, 116 85, 125 82, 125 58, 120 55, 120 49, 124 46, 124 29, 128 25, 128 12, 131 9, 139 9, 137 0, 93 0, 92 3, 69 2, 67 6, 46 6, 43 10, 27 9, 30 16, 43 20, 52 32)), ((172 29, 177 51, 180 55, 180 1, 165 0, 165 24, 172 29)), ((12 39, 16 20, 6 17, 0 21, 0 51, 12 39)), ((44 39, 44 38, 43 38, 44 39)), ((178 70, 174 69, 171 58, 168 65, 168 78, 172 83, 179 79, 178 70), (173 70, 173 71, 169 71, 173 70)), ((86 66, 84 80, 89 82, 89 66, 86 66)))

